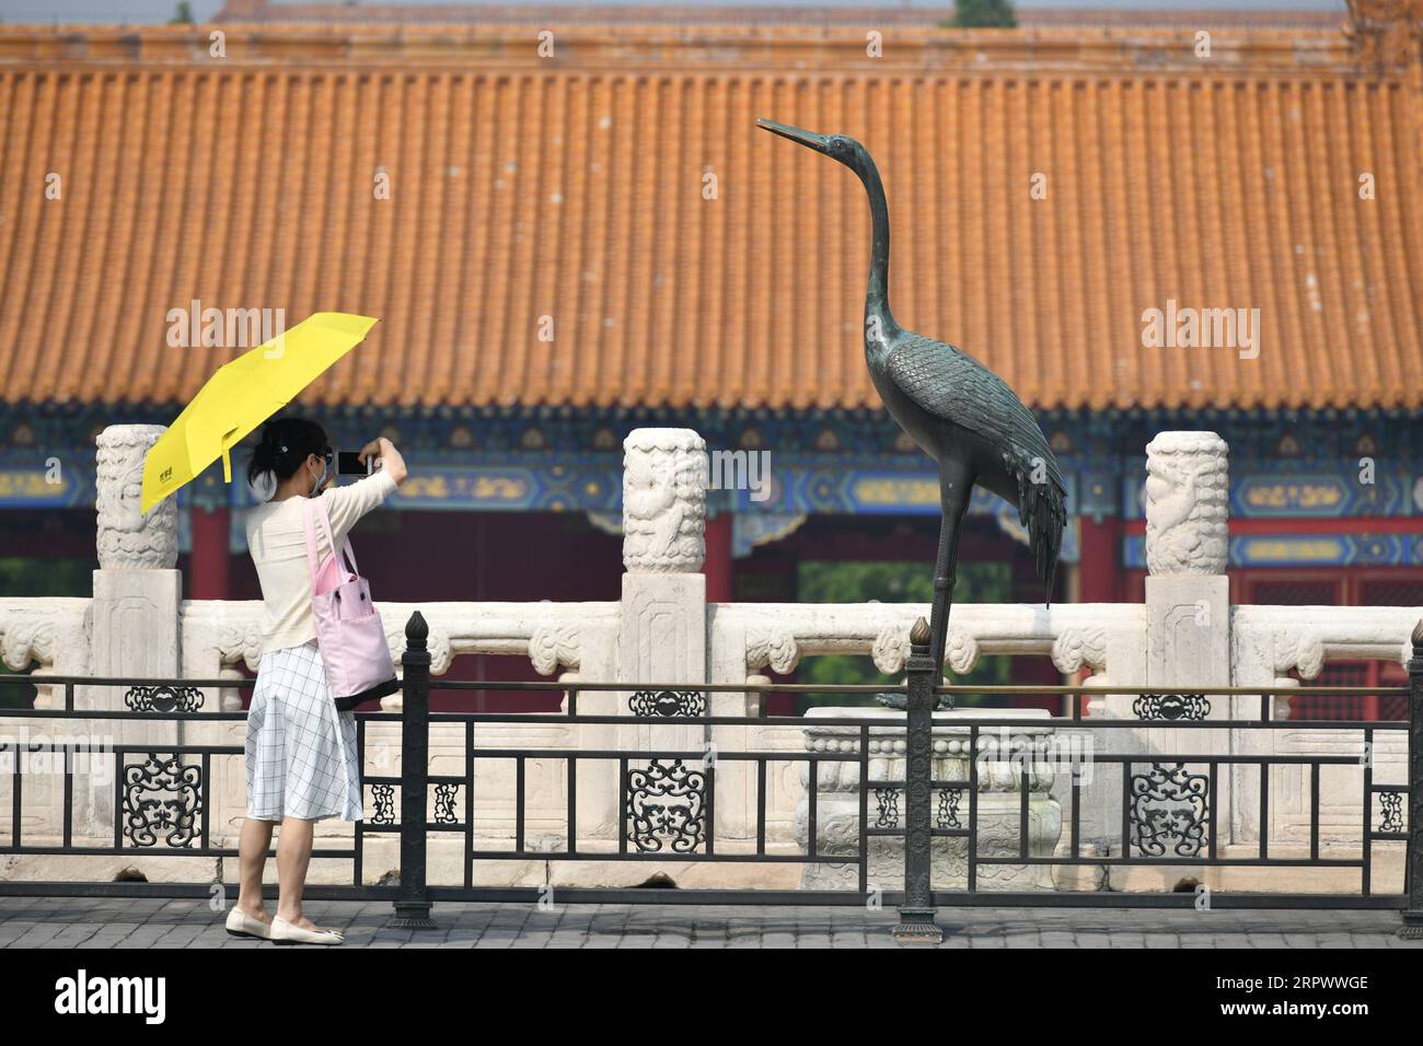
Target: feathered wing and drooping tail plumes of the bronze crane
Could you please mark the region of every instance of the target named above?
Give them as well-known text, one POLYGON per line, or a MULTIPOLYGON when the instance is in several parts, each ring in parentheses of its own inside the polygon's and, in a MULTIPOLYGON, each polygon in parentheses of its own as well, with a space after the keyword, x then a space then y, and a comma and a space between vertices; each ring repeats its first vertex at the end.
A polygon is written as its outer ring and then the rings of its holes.
POLYGON ((905 332, 885 367, 895 386, 921 408, 999 451, 1003 471, 1017 485, 1017 518, 1027 529, 1037 576, 1050 599, 1067 522, 1067 484, 1032 411, 1003 379, 943 342, 905 332), (1046 482, 1033 482, 1035 472, 1046 482))

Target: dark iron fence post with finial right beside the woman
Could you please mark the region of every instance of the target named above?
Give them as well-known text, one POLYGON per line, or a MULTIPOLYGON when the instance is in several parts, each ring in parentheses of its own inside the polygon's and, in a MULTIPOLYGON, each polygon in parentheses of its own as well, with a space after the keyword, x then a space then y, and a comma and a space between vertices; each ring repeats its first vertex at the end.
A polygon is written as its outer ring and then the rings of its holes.
POLYGON ((425 889, 425 791, 430 774, 430 626, 420 611, 406 622, 400 656, 400 894, 388 926, 434 929, 425 889))

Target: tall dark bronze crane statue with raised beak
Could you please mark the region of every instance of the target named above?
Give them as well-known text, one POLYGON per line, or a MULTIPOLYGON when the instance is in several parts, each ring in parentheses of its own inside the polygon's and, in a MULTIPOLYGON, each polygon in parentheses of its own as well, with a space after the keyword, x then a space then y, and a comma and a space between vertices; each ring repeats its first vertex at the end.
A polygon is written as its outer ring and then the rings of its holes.
POLYGON ((865 363, 879 398, 939 465, 939 556, 933 574, 929 652, 943 675, 943 643, 959 558, 959 534, 973 484, 1017 507, 1037 576, 1052 599, 1053 571, 1067 521, 1067 487, 1043 431, 1012 389, 962 350, 904 330, 889 312, 889 206, 869 152, 842 134, 814 134, 757 120, 758 127, 838 159, 869 194, 869 286, 865 290, 865 363))

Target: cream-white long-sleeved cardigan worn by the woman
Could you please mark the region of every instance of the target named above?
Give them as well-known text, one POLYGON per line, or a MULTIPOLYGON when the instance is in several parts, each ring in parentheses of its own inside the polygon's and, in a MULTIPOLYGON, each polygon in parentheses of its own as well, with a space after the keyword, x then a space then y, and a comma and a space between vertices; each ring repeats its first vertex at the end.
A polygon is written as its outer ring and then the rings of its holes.
MULTIPOLYGON (((390 472, 376 472, 346 487, 329 487, 322 492, 332 518, 332 537, 337 546, 346 541, 351 527, 366 512, 380 505, 396 481, 390 472)), ((262 629, 262 653, 300 646, 316 639, 312 618, 312 574, 306 561, 306 528, 302 508, 306 498, 269 501, 248 512, 248 551, 258 568, 266 622, 262 629)), ((330 554, 326 532, 316 524, 316 559, 320 564, 330 554)))

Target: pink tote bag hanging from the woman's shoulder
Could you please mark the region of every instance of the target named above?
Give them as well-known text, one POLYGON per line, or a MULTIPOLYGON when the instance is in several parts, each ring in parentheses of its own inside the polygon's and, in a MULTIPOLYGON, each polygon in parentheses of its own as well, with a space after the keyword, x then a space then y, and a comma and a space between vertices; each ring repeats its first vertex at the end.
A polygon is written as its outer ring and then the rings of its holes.
POLYGON ((384 697, 400 689, 396 665, 390 659, 386 629, 370 598, 370 585, 357 572, 350 541, 336 548, 332 518, 322 498, 307 498, 302 507, 306 527, 306 562, 312 572, 312 616, 316 619, 316 645, 326 666, 336 707, 349 712, 364 702, 384 697), (322 521, 332 555, 316 562, 314 518, 322 521), (350 561, 347 571, 343 562, 350 561))

